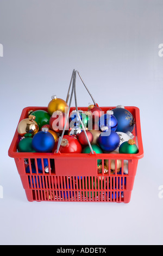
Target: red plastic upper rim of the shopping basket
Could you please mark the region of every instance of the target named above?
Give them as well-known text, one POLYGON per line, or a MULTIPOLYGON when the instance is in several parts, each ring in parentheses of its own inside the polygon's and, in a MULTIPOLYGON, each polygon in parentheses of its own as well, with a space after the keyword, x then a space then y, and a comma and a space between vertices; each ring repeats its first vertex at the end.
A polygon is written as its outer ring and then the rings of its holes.
MULTIPOLYGON (((102 109, 113 109, 116 106, 113 107, 101 107, 102 109)), ((71 107, 71 109, 73 109, 75 107, 71 107)), ((135 118, 136 118, 136 130, 137 130, 137 143, 139 145, 139 152, 136 154, 76 154, 76 153, 70 153, 70 154, 65 154, 65 153, 18 153, 16 152, 14 149, 16 148, 16 144, 17 144, 17 139, 18 139, 18 132, 17 132, 17 127, 16 127, 16 131, 14 134, 14 137, 12 139, 12 142, 10 144, 9 150, 8 150, 8 155, 9 157, 12 157, 14 159, 37 159, 37 158, 47 158, 47 159, 61 159, 61 158, 69 158, 70 157, 73 159, 122 159, 122 160, 134 160, 134 159, 142 159, 142 157, 144 156, 144 151, 143 151, 143 143, 142 143, 142 135, 141 135, 141 123, 140 123, 140 109, 138 107, 135 106, 124 106, 124 108, 126 109, 134 109, 135 110, 135 118)), ((20 121, 24 118, 26 118, 26 115, 28 113, 28 111, 30 109, 34 109, 34 110, 45 110, 47 111, 47 107, 25 107, 22 109, 22 113, 21 113, 21 117, 20 120, 18 121, 18 124, 20 123, 20 121)), ((78 109, 87 109, 87 107, 78 107, 78 109)))

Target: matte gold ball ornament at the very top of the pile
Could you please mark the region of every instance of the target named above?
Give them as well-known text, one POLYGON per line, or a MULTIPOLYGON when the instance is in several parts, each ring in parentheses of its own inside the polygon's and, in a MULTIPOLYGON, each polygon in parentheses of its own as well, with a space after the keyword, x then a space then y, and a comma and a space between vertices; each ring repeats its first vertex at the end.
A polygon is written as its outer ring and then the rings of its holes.
POLYGON ((57 98, 56 95, 53 95, 52 100, 48 103, 48 113, 52 115, 53 112, 57 110, 61 110, 65 113, 65 107, 68 107, 66 101, 57 98))

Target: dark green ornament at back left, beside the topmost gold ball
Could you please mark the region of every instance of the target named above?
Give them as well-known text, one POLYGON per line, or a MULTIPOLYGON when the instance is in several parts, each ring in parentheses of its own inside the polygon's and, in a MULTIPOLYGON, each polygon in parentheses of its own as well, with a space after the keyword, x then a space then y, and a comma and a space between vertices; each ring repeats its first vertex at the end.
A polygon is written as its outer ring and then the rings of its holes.
POLYGON ((44 111, 44 110, 36 110, 34 112, 30 111, 30 114, 32 114, 36 117, 35 121, 36 121, 37 125, 39 125, 39 130, 40 131, 41 131, 41 127, 43 125, 49 124, 49 120, 51 118, 51 115, 49 115, 47 111, 44 111))

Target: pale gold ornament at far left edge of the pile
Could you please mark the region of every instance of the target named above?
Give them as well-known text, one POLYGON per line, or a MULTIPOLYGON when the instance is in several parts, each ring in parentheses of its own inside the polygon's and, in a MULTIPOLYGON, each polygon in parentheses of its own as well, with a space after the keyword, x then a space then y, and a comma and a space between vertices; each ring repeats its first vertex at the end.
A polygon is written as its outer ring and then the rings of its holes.
POLYGON ((32 135, 34 135, 38 131, 39 131, 39 126, 35 121, 34 115, 29 115, 28 118, 21 120, 17 126, 17 132, 22 137, 26 133, 32 133, 32 135))

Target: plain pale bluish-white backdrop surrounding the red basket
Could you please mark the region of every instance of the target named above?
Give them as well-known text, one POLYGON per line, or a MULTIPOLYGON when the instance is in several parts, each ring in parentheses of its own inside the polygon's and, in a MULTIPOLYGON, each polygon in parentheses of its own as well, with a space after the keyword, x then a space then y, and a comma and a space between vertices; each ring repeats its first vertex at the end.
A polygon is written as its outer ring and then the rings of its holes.
MULTIPOLYGON (((162 11, 161 0, 0 2, 1 245, 162 245, 162 11), (8 156, 22 109, 66 99, 73 69, 99 106, 140 108, 145 156, 129 204, 29 203, 8 156)), ((78 79, 77 94, 88 106, 78 79)))

